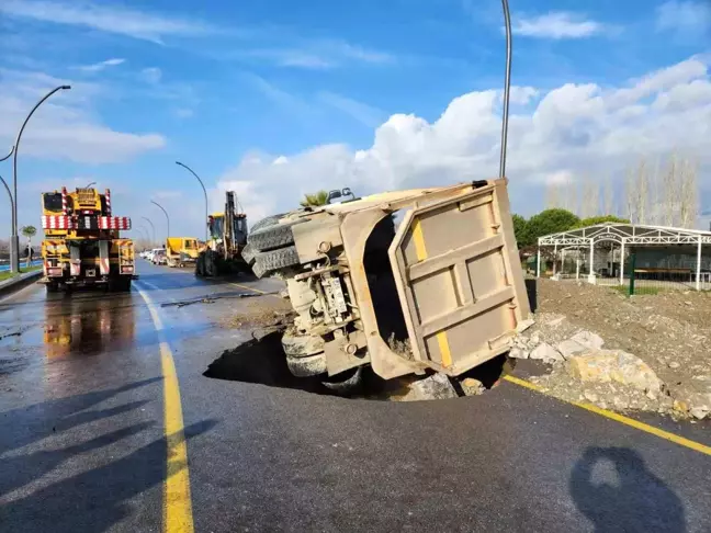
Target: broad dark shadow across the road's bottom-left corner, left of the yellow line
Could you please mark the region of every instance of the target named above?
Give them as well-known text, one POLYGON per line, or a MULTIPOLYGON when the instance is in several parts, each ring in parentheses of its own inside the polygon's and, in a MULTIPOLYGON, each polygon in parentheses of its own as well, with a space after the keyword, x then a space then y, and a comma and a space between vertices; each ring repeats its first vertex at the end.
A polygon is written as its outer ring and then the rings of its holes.
MULTIPOLYGON (((184 430, 185 439, 204 433, 215 424, 214 420, 205 420, 189 426, 184 430)), ((166 479, 166 438, 156 439, 124 457, 0 507, 3 531, 99 533, 131 515, 140 523, 140 531, 159 530, 160 501, 136 506, 131 500, 166 479)), ((125 528, 125 531, 139 530, 125 528)))

